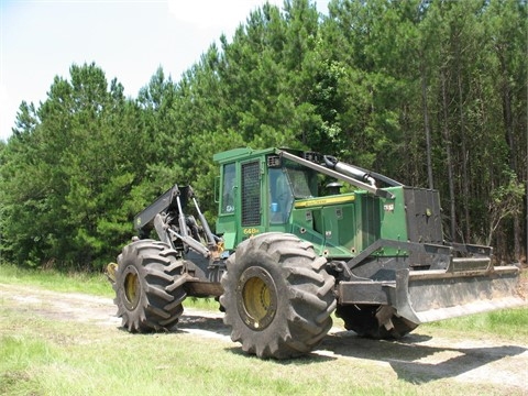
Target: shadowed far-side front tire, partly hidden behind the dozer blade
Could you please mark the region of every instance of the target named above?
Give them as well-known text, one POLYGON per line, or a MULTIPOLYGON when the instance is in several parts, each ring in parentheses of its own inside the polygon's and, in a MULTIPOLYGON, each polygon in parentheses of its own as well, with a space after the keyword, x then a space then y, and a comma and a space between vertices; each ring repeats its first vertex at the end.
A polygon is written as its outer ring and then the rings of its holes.
POLYGON ((376 340, 399 339, 418 327, 384 306, 338 305, 336 316, 343 319, 346 330, 376 340))

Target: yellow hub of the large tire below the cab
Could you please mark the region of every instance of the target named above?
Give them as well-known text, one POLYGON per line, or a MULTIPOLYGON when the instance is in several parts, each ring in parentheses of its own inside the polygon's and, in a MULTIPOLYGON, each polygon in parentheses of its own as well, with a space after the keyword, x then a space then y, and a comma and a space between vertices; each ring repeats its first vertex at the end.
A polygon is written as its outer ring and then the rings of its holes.
POLYGON ((277 289, 270 273, 261 267, 249 267, 239 279, 237 294, 244 323, 257 331, 268 327, 277 311, 277 289))

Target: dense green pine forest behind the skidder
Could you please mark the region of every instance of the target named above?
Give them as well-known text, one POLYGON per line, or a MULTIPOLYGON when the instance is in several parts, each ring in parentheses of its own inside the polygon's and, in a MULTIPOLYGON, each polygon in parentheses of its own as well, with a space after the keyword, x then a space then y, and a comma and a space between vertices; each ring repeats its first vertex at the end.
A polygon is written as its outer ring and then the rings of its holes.
POLYGON ((0 254, 100 270, 133 216, 190 183, 216 217, 212 154, 289 146, 440 191, 446 240, 526 257, 526 0, 308 0, 252 12, 180 80, 136 98, 96 63, 22 102, 0 142, 0 254))

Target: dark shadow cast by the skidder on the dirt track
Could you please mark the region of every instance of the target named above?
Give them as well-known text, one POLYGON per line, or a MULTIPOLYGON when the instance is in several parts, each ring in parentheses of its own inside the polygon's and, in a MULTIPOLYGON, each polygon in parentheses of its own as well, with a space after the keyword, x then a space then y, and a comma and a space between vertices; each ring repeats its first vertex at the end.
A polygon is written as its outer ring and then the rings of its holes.
MULTIPOLYGON (((201 316, 184 312, 177 328, 170 333, 197 333, 222 338, 230 342, 230 328, 223 324, 222 315, 201 316)), ((455 377, 507 356, 519 355, 527 351, 518 345, 454 348, 422 344, 431 337, 411 333, 402 340, 385 341, 358 337, 353 331, 340 331, 328 334, 310 354, 301 358, 274 361, 279 365, 314 364, 334 361, 340 358, 362 359, 385 362, 394 370, 399 380, 413 384, 428 383, 441 378, 455 377)), ((226 351, 245 355, 240 344, 227 346, 226 351)), ((248 356, 248 359, 257 359, 248 356)))

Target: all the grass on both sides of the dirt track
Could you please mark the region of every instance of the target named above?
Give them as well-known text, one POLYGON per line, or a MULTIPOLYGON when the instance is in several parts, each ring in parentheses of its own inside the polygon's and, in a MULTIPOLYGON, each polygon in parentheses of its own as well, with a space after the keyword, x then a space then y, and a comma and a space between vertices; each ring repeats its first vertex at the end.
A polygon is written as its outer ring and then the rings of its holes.
MULTIPOLYGON (((0 283, 112 297, 102 274, 62 274, 0 265, 0 283)), ((210 300, 186 306, 210 307, 210 300)), ((509 395, 519 389, 415 373, 420 346, 362 343, 343 359, 311 354, 287 362, 244 355, 239 344, 176 331, 130 334, 116 327, 57 321, 10 306, 0 295, 0 395, 509 395), (384 346, 385 345, 385 346, 384 346), (380 352, 381 350, 381 352, 380 352), (405 356, 404 352, 417 354, 405 356)), ((504 338, 528 343, 528 309, 424 324, 419 334, 504 338)), ((339 341, 338 341, 339 342, 339 341)), ((327 346, 328 349, 328 346, 327 346)), ((331 351, 331 348, 330 348, 331 351)), ((436 351, 435 353, 447 353, 436 351)), ((422 369, 424 369, 422 367, 422 369)), ((470 369, 468 369, 470 370, 470 369)))

